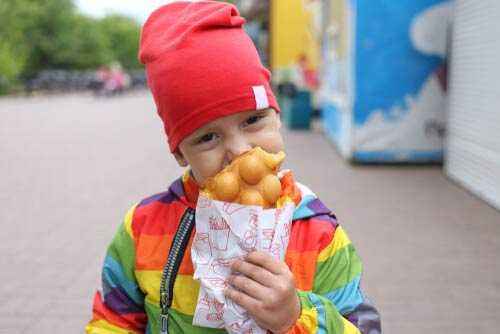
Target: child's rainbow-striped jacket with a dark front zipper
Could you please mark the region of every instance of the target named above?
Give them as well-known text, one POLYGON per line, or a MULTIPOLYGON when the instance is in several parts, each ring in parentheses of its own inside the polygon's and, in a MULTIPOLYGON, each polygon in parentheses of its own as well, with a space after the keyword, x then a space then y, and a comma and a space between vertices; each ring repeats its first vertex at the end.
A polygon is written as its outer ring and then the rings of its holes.
MULTIPOLYGON (((107 250, 102 292, 95 295, 86 333, 159 333, 162 271, 180 218, 195 207, 198 194, 187 175, 126 214, 107 250)), ((354 246, 331 211, 299 188, 285 262, 302 311, 290 333, 380 333, 379 314, 360 288, 362 264, 354 246)), ((174 284, 169 333, 224 333, 192 325, 199 291, 190 254, 193 235, 174 284)))

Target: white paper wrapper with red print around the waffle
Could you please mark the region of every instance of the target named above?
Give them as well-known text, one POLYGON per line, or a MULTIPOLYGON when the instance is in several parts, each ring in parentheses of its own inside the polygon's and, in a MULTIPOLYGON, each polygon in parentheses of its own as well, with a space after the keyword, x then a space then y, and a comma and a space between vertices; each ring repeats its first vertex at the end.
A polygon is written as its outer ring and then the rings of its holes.
POLYGON ((208 199, 200 194, 191 248, 200 281, 193 325, 225 328, 229 333, 266 333, 248 313, 224 296, 231 263, 252 251, 284 260, 295 205, 263 209, 208 199))

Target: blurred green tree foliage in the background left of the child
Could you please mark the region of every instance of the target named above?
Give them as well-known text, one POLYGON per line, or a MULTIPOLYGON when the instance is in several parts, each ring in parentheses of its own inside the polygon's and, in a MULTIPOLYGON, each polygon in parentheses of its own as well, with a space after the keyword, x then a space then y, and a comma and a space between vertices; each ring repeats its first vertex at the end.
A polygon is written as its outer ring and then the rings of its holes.
POLYGON ((140 25, 121 15, 94 19, 74 0, 0 0, 0 93, 45 69, 93 69, 137 60, 140 25))

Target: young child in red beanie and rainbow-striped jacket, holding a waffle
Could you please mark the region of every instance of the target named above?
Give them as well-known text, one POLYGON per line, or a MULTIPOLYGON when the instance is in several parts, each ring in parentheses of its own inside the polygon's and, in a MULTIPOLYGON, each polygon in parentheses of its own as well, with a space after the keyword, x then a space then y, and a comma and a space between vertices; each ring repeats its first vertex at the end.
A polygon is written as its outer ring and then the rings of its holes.
MULTIPOLYGON (((224 332, 192 325, 199 291, 190 255, 194 232, 180 263, 165 266, 180 224, 196 208, 199 185, 254 147, 284 149, 270 74, 243 24, 236 7, 215 1, 175 2, 145 23, 139 56, 170 150, 189 169, 126 214, 107 251, 87 333, 224 332), (169 291, 162 277, 171 268, 178 271, 169 291), (165 303, 167 316, 160 316, 165 303)), ((263 252, 235 261, 239 274, 229 278, 226 297, 273 333, 380 333, 345 231, 291 173, 281 183, 297 204, 285 262, 263 252)))

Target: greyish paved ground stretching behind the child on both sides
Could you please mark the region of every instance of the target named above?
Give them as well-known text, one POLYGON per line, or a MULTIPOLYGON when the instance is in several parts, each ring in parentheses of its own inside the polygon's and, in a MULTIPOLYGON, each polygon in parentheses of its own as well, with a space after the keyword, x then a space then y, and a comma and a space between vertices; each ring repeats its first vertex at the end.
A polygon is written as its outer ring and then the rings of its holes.
MULTIPOLYGON (((385 333, 497 330, 498 211, 439 167, 353 167, 319 131, 285 137, 357 246, 385 333)), ((148 94, 1 99, 0 333, 81 333, 122 214, 179 173, 148 94)))

